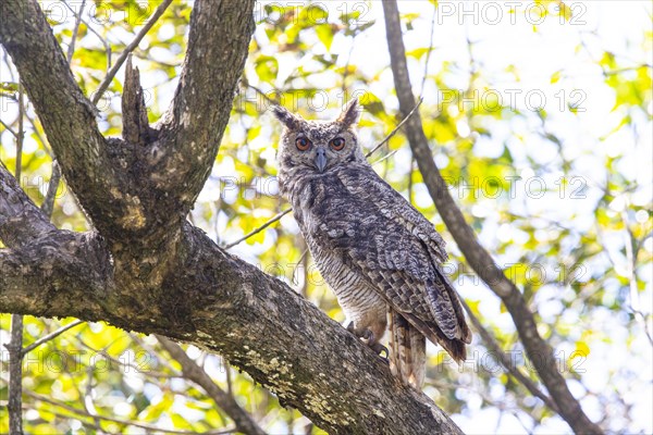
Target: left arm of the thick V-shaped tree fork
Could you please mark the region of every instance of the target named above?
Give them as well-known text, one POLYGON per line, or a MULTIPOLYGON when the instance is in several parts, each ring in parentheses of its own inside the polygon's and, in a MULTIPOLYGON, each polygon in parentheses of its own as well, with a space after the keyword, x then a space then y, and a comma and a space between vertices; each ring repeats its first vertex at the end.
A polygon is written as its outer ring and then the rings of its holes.
POLYGON ((113 196, 130 183, 116 176, 96 110, 75 83, 37 0, 7 0, 0 8, 0 44, 21 74, 67 182, 91 219, 124 217, 119 213, 124 209, 113 207, 113 196), (94 200, 98 192, 103 200, 94 200))

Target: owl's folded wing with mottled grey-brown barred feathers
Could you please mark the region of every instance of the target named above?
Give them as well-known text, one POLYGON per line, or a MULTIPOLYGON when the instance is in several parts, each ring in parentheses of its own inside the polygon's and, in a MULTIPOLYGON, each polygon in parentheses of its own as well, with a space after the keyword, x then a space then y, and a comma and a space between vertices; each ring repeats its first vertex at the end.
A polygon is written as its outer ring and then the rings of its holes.
MULTIPOLYGON (((366 178, 365 174, 361 177, 366 178)), ((381 211, 404 207, 396 203, 397 197, 392 195, 396 191, 385 186, 365 191, 358 186, 316 204, 320 219, 311 237, 361 273, 394 310, 432 341, 447 350, 464 348, 457 341, 467 343, 469 330, 457 295, 433 258, 434 240, 424 240, 415 224, 406 225, 406 220, 381 211)))

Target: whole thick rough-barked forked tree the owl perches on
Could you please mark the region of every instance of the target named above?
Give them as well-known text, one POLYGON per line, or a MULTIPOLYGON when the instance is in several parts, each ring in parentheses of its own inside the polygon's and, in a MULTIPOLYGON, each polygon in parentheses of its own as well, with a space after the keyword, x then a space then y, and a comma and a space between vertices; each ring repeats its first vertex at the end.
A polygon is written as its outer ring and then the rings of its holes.
POLYGON ((229 120, 252 7, 195 2, 180 85, 157 126, 141 116, 128 65, 119 139, 98 130, 37 1, 2 1, 0 44, 95 229, 56 228, 0 163, 0 311, 106 321, 192 343, 331 433, 460 433, 341 325, 185 220, 229 120))

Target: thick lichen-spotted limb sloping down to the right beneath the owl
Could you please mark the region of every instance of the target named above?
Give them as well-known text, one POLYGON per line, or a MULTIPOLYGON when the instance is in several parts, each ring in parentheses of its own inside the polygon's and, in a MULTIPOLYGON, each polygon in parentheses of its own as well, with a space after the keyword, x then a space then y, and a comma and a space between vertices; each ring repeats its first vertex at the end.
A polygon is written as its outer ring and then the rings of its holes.
MULTIPOLYGON (((38 210, 17 184, 5 186, 38 210)), ((192 343, 222 355, 331 433, 460 433, 428 397, 402 385, 373 351, 288 286, 189 224, 178 245, 177 254, 164 259, 170 269, 161 281, 114 279, 130 270, 111 266, 96 233, 49 231, 20 249, 0 250, 0 312, 106 321, 192 343), (119 288, 119 281, 127 287, 119 288)))

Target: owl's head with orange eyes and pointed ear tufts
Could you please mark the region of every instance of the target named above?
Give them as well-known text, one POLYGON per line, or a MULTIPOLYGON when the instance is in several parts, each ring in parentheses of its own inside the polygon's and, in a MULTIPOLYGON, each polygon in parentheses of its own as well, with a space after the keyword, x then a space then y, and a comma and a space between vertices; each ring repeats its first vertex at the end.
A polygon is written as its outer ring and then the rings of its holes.
POLYGON ((306 121, 281 105, 272 112, 284 125, 279 144, 282 170, 308 169, 323 173, 354 161, 365 161, 354 127, 360 105, 353 99, 334 121, 306 121))

